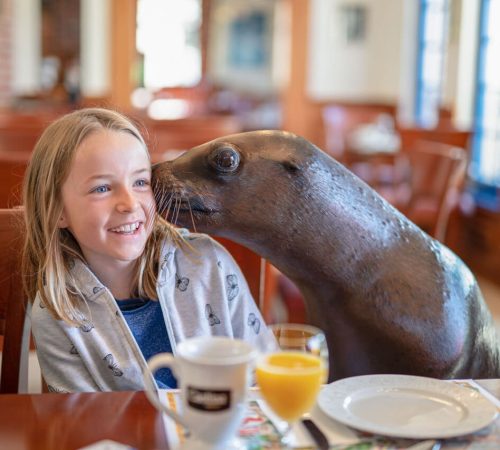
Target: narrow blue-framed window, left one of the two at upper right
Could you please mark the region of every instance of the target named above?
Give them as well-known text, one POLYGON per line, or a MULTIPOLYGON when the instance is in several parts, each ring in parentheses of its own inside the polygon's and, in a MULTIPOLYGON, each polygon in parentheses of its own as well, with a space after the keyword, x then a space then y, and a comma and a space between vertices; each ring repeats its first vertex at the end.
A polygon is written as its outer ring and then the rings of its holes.
POLYGON ((448 16, 448 0, 420 1, 415 119, 426 128, 439 118, 448 16))

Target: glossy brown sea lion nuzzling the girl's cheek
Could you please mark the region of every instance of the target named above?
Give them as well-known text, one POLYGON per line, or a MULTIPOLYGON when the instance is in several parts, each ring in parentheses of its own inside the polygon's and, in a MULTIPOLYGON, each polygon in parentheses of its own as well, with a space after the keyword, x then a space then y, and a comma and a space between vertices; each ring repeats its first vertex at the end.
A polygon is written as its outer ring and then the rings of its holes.
POLYGON ((152 184, 177 225, 239 242, 294 281, 309 322, 325 331, 331 380, 500 377, 470 270, 307 140, 221 137, 154 166, 152 184))

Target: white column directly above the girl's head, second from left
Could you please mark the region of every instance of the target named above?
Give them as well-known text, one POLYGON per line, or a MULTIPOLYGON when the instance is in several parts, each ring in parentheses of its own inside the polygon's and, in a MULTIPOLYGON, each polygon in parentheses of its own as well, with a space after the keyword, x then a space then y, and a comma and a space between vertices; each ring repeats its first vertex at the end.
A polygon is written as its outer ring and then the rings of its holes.
POLYGON ((83 97, 109 94, 111 2, 80 1, 80 88, 83 97))

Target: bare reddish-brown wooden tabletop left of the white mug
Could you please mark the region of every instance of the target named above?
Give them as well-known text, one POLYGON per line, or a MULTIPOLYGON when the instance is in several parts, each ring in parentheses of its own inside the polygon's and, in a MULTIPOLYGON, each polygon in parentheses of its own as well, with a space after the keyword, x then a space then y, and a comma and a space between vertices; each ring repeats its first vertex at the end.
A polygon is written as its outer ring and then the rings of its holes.
POLYGON ((144 392, 0 395, 0 448, 72 450, 103 439, 168 449, 144 392))

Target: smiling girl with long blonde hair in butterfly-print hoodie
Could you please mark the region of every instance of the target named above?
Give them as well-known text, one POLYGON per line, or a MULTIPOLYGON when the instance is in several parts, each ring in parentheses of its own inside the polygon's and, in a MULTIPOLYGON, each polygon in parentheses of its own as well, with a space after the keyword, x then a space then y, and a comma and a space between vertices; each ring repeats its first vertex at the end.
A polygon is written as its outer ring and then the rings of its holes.
MULTIPOLYGON (((267 332, 241 271, 206 235, 155 210, 149 154, 117 112, 55 121, 24 182, 23 273, 49 390, 143 389, 146 360, 183 339, 267 332)), ((160 387, 175 387, 168 369, 160 387)))

